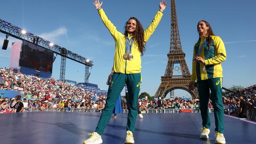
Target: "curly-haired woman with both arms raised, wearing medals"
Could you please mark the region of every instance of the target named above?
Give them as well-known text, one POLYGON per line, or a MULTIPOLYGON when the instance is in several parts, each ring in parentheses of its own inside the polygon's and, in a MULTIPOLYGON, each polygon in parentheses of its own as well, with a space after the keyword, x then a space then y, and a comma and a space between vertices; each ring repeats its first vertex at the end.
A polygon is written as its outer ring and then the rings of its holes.
POLYGON ((103 134, 104 129, 111 118, 111 114, 119 94, 126 84, 129 93, 129 113, 125 143, 132 144, 134 143, 132 133, 135 131, 137 100, 141 84, 141 56, 145 51, 145 43, 148 41, 154 30, 156 30, 156 27, 163 16, 166 2, 160 2, 160 10, 156 13, 156 16, 146 30, 143 29, 137 18, 131 17, 126 22, 124 34, 117 31, 116 27, 108 19, 104 10, 101 8, 102 2, 100 3, 99 0, 95 0, 93 4, 98 10, 104 25, 108 28, 115 40, 115 56, 113 64, 114 73, 111 76, 111 83, 108 88, 108 98, 106 100, 105 108, 100 116, 96 131, 90 133, 89 135, 91 135, 91 137, 85 140, 83 143, 102 143, 101 135, 103 134))

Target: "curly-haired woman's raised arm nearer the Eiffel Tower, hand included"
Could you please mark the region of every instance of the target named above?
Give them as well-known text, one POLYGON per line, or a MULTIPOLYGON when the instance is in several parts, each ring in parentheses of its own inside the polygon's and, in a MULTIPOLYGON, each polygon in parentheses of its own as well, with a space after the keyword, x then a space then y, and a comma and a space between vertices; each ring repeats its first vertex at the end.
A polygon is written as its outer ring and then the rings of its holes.
POLYGON ((148 28, 144 31, 144 41, 145 43, 148 41, 149 37, 154 33, 154 31, 156 30, 156 27, 158 26, 162 16, 163 16, 163 11, 165 10, 166 7, 166 2, 165 1, 161 1, 159 3, 159 11, 156 13, 156 16, 154 17, 154 19, 152 20, 150 26, 148 26, 148 28))

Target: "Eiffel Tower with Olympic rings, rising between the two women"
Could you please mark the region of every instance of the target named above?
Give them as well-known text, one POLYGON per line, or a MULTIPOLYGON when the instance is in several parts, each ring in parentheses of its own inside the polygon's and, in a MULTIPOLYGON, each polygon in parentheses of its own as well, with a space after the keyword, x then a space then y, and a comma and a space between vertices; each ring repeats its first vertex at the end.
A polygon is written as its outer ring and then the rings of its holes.
POLYGON ((175 0, 171 0, 171 46, 167 57, 168 62, 165 74, 161 76, 161 84, 155 96, 165 97, 171 90, 183 89, 189 92, 193 98, 198 98, 197 88, 193 91, 188 88, 191 74, 187 67, 185 53, 182 51, 180 42, 175 0), (174 66, 174 64, 180 64, 180 66, 174 66))

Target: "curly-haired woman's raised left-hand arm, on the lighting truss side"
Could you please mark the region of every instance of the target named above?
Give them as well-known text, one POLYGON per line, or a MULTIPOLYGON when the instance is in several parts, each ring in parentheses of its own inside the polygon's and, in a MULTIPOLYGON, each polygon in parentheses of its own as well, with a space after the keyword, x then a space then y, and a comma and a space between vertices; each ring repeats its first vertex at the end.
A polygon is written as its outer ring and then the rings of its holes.
POLYGON ((103 2, 100 3, 99 0, 95 0, 93 5, 96 7, 96 9, 98 9, 98 13, 100 15, 100 18, 102 19, 102 22, 104 23, 104 25, 108 28, 108 30, 111 33, 112 37, 114 38, 115 41, 117 41, 117 38, 118 37, 123 37, 123 35, 119 31, 117 31, 117 28, 108 19, 107 15, 105 14, 103 9, 101 8, 102 3, 103 2))

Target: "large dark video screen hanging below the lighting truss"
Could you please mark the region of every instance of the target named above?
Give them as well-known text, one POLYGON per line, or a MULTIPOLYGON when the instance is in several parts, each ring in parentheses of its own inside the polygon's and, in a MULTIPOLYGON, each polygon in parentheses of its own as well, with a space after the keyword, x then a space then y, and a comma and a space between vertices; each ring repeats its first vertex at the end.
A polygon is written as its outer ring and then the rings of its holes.
POLYGON ((20 52, 20 66, 52 73, 53 54, 52 51, 46 48, 23 41, 22 51, 20 52))

